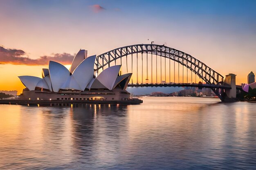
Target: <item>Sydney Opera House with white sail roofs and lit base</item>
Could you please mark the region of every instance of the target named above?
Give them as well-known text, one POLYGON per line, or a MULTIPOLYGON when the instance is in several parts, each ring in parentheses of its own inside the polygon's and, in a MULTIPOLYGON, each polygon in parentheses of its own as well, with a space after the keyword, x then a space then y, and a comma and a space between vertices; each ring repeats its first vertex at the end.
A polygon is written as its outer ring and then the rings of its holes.
MULTIPOLYGON (((19 76, 26 86, 20 100, 92 102, 92 101, 131 101, 126 91, 132 73, 120 75, 121 65, 103 70, 94 75, 96 55, 87 57, 85 50, 80 50, 70 69, 58 62, 50 61, 49 68, 43 68, 42 78, 19 76)), ((140 100, 141 101, 141 100, 140 100)), ((141 101, 142 102, 142 101, 141 101)))

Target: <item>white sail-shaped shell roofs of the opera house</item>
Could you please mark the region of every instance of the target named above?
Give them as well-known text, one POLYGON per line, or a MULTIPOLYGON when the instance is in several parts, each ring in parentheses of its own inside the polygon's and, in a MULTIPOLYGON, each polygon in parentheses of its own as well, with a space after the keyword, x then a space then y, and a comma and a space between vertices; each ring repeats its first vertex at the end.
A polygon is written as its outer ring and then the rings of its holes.
POLYGON ((70 70, 58 62, 50 61, 49 68, 43 68, 42 78, 34 76, 19 76, 20 81, 28 91, 38 88, 51 93, 60 91, 91 91, 92 89, 107 89, 115 87, 126 89, 132 73, 119 75, 121 65, 111 66, 103 70, 97 77, 94 75, 96 55, 86 57, 87 51, 80 50, 74 57, 70 70))

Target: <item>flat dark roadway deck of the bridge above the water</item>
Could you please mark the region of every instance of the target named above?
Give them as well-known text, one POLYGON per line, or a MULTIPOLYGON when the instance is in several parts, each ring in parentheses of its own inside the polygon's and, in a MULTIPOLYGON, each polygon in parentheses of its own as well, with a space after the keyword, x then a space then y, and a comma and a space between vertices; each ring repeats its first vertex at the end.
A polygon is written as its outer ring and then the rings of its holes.
POLYGON ((199 87, 199 88, 231 89, 231 86, 229 86, 229 85, 198 84, 198 83, 128 84, 128 87, 199 87))

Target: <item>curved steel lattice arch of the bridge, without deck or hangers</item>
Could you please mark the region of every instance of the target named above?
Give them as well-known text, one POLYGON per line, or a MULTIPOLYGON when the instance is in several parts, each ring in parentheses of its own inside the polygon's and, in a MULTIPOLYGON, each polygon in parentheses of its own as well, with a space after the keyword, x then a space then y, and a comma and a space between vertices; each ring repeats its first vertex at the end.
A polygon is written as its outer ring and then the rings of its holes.
POLYGON ((181 65, 189 68, 207 84, 218 84, 219 82, 223 82, 224 77, 222 75, 195 57, 192 57, 187 53, 170 48, 168 46, 157 44, 135 44, 124 46, 98 55, 95 60, 95 71, 98 72, 100 69, 104 69, 104 66, 110 67, 111 62, 115 62, 116 64, 116 61, 122 57, 126 57, 127 61, 127 55, 136 53, 155 54, 178 62, 181 65))

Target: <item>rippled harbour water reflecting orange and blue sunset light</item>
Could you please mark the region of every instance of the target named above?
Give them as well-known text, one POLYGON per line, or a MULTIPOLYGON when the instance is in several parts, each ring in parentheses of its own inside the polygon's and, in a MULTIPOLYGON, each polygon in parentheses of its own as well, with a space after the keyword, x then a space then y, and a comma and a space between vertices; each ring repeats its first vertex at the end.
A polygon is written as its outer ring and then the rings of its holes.
POLYGON ((0 105, 0 169, 256 169, 256 103, 0 105))

